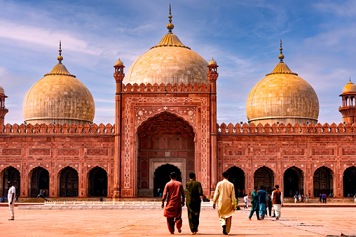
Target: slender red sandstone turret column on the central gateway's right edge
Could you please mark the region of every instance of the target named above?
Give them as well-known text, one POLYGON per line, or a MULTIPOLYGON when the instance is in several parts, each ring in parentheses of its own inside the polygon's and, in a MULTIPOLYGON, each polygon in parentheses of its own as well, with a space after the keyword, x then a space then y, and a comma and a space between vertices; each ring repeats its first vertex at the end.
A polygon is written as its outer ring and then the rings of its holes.
POLYGON ((207 66, 207 78, 210 81, 210 196, 217 185, 217 62, 214 59, 207 66))

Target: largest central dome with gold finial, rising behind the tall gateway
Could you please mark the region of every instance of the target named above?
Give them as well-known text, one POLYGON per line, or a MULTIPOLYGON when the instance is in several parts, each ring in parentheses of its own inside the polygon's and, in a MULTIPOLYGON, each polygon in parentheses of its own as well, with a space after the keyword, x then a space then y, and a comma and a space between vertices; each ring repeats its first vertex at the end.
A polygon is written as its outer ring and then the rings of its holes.
POLYGON ((169 18, 168 33, 132 63, 125 73, 125 84, 209 84, 207 62, 172 33, 174 25, 171 13, 169 18))

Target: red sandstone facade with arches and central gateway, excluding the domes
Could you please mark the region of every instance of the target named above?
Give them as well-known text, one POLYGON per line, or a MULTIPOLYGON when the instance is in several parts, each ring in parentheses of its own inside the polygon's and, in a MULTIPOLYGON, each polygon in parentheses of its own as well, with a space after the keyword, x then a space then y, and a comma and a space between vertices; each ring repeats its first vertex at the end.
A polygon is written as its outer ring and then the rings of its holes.
POLYGON ((195 171, 209 195, 226 170, 247 194, 261 184, 285 196, 355 191, 356 124, 217 125, 209 67, 210 85, 123 85, 116 65, 115 126, 0 124, 1 195, 10 177, 22 197, 40 182, 50 197, 155 196, 170 168, 182 182, 195 171))

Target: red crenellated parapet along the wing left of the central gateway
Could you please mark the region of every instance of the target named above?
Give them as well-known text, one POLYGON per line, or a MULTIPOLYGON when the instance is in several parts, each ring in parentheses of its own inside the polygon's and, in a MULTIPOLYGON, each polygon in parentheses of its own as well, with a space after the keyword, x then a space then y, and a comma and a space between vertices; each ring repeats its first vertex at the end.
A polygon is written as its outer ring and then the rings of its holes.
POLYGON ((0 134, 114 134, 111 124, 0 124, 0 134))

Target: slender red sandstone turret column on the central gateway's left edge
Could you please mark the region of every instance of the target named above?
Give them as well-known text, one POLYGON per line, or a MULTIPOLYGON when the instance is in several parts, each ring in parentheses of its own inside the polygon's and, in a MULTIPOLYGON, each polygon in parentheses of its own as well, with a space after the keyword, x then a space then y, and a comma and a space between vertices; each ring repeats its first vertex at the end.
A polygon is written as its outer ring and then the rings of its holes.
POLYGON ((118 59, 114 68, 114 78, 116 81, 115 94, 115 154, 114 154, 114 195, 113 199, 118 199, 121 196, 121 117, 122 117, 122 99, 121 92, 123 91, 123 62, 118 59))

